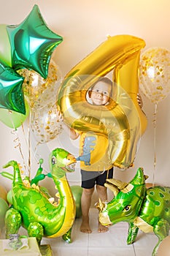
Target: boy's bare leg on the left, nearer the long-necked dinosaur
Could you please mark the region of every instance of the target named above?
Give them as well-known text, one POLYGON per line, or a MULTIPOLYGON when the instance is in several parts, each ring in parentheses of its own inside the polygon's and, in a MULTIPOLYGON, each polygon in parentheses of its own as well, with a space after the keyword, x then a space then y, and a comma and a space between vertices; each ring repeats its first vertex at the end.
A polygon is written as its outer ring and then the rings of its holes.
POLYGON ((82 225, 80 226, 80 231, 83 233, 91 233, 90 225, 89 225, 89 210, 91 197, 93 195, 94 187, 92 189, 84 189, 82 190, 82 225))

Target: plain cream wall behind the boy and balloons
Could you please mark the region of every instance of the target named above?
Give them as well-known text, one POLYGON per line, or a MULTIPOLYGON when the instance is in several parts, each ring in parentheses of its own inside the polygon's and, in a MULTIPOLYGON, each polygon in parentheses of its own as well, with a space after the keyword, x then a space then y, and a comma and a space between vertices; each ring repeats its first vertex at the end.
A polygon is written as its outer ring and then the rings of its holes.
MULTIPOLYGON (((48 27, 56 34, 63 37, 63 42, 53 53, 53 59, 61 69, 64 77, 74 65, 92 52, 101 42, 107 39, 107 35, 131 34, 141 37, 146 42, 147 48, 159 46, 170 50, 170 2, 169 0, 0 0, 0 23, 21 23, 31 12, 34 4, 39 5, 42 17, 48 27)), ((150 176, 148 182, 154 182, 169 186, 169 151, 170 151, 170 102, 169 97, 163 99, 158 105, 156 125, 156 147, 154 148, 153 113, 154 105, 142 95, 144 112, 147 115, 148 127, 144 133, 139 151, 136 154, 134 167, 121 171, 115 168, 115 178, 129 181, 138 167, 144 167, 144 172, 150 176), (156 165, 154 170, 154 157, 156 165)), ((0 124, 0 167, 10 159, 16 159, 23 164, 23 157, 14 142, 16 135, 11 134, 11 129, 0 124)), ((28 146, 23 140, 23 131, 18 129, 23 155, 28 161, 28 146)), ((26 139, 28 132, 26 131, 26 139)), ((47 158, 50 150, 54 147, 63 146, 73 154, 77 153, 77 142, 69 142, 67 135, 62 134, 59 138, 39 148, 42 157, 47 158)), ((40 154, 39 153, 39 154, 40 154)), ((36 170, 34 152, 31 155, 34 165, 31 175, 36 170)), ((46 164, 45 164, 46 167, 46 164)), ((2 168, 1 168, 2 170, 2 168)), ((79 167, 72 176, 69 176, 71 184, 80 182, 79 167)), ((11 181, 0 177, 0 184, 7 189, 11 181)), ((47 186, 47 181, 44 182, 47 186)))

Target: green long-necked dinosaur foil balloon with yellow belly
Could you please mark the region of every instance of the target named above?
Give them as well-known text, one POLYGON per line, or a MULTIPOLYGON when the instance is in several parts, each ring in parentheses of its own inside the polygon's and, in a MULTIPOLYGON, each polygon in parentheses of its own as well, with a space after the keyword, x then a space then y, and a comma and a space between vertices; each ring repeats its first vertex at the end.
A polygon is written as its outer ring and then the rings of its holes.
MULTIPOLYGON (((18 233, 20 225, 23 225, 28 231, 28 236, 36 237, 39 243, 42 236, 48 238, 63 236, 64 240, 71 241, 76 207, 72 190, 66 179, 66 172, 74 171, 76 159, 68 151, 55 148, 50 154, 49 162, 50 174, 60 195, 58 203, 53 202, 52 198, 39 188, 37 179, 35 179, 36 184, 22 180, 18 162, 10 161, 4 165, 4 167, 14 168, 12 207, 9 208, 5 217, 7 238, 9 234, 18 233)), ((39 168, 41 169, 41 165, 39 168)), ((41 171, 36 173, 36 178, 42 178, 41 171)))

